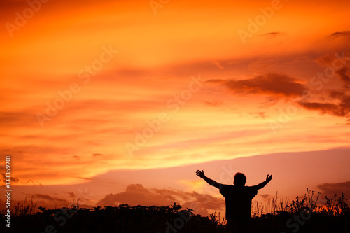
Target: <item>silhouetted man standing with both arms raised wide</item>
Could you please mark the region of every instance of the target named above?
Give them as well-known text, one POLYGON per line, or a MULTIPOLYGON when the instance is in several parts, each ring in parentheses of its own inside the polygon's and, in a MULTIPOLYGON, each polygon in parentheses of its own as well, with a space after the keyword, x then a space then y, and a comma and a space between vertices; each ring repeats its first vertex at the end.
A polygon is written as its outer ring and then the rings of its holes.
POLYGON ((251 220, 251 199, 258 194, 260 188, 264 188, 272 179, 272 175, 266 176, 266 181, 255 186, 244 186, 246 184, 246 176, 237 172, 233 185, 223 185, 211 180, 204 175, 204 171, 197 170, 197 176, 207 181, 209 185, 220 190, 221 195, 225 197, 226 202, 226 220, 229 231, 247 232, 249 220, 251 220))

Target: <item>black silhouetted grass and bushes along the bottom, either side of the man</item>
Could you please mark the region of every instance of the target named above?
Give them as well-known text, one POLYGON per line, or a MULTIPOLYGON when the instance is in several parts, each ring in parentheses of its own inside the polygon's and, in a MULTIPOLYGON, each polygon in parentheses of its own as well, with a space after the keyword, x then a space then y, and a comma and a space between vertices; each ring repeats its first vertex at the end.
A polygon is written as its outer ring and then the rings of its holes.
MULTIPOLYGON (((253 206, 253 218, 245 232, 350 232, 348 200, 341 195, 326 197, 318 205, 318 197, 307 190, 304 197, 288 202, 272 198, 267 204, 253 206)), ((70 208, 47 210, 42 206, 34 213, 33 199, 19 205, 11 218, 11 232, 225 232, 225 218, 221 212, 207 217, 196 215, 192 209, 172 206, 97 206, 83 209, 72 204, 70 208), (48 227, 48 228, 47 228, 48 227)), ((5 232, 3 213, 1 232, 5 232)))

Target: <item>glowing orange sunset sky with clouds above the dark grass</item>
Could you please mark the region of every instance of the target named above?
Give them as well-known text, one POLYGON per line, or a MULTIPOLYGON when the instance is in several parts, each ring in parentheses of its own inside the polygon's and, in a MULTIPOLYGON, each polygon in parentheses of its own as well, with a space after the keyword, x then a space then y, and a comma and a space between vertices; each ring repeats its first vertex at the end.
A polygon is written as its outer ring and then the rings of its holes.
POLYGON ((260 202, 350 195, 349 7, 1 1, 0 169, 12 155, 13 200, 224 209, 197 169, 228 184, 273 174, 260 202))

